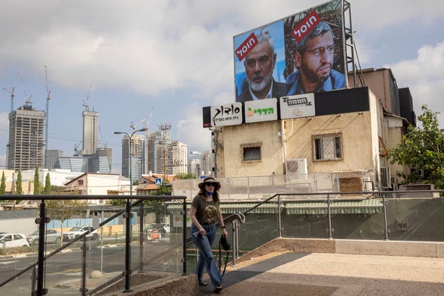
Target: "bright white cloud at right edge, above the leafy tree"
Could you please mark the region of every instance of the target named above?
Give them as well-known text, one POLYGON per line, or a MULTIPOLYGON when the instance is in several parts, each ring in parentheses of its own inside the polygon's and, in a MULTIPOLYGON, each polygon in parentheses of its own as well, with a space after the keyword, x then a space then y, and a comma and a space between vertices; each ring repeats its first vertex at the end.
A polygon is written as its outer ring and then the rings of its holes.
MULTIPOLYGON (((392 69, 398 87, 409 87, 417 115, 421 114, 423 104, 434 112, 444 111, 444 41, 435 46, 422 46, 414 60, 403 60, 384 67, 392 69)), ((444 114, 439 116, 439 121, 440 126, 444 126, 444 114)))

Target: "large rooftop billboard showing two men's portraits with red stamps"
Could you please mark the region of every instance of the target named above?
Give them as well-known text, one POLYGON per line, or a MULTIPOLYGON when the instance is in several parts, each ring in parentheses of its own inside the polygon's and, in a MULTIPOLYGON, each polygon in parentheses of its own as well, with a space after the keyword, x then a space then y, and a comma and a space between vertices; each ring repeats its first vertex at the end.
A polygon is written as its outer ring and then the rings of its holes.
POLYGON ((236 35, 233 44, 237 102, 346 87, 341 0, 236 35))

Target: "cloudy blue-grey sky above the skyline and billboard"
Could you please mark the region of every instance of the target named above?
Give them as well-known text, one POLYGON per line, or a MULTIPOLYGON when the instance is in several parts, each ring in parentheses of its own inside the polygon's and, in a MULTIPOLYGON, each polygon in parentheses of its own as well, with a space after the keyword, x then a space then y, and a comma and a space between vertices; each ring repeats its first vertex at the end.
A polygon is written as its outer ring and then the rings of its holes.
MULTIPOLYGON (((234 98, 232 37, 325 1, 307 0, 3 0, 0 89, 15 87, 14 108, 45 108, 48 69, 49 149, 72 155, 81 140, 83 100, 100 112, 100 146, 113 148, 152 112, 149 130, 171 123, 189 150, 210 149, 202 107, 234 98)), ((438 0, 351 0, 361 67, 391 68, 410 87, 416 114, 443 111, 444 5, 438 0)), ((5 165, 10 94, 0 92, 0 167, 5 165)), ((440 116, 441 128, 444 117, 440 116)), ((140 124, 137 128, 143 128, 140 124)), ((81 147, 81 146, 80 146, 81 147)))

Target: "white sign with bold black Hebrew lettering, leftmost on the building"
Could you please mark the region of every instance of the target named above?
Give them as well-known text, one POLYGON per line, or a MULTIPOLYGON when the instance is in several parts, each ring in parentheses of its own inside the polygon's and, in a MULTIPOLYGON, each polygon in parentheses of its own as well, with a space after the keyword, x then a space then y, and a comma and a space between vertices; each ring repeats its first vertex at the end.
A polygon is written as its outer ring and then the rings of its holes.
POLYGON ((211 106, 211 126, 239 125, 242 123, 242 103, 211 106))

